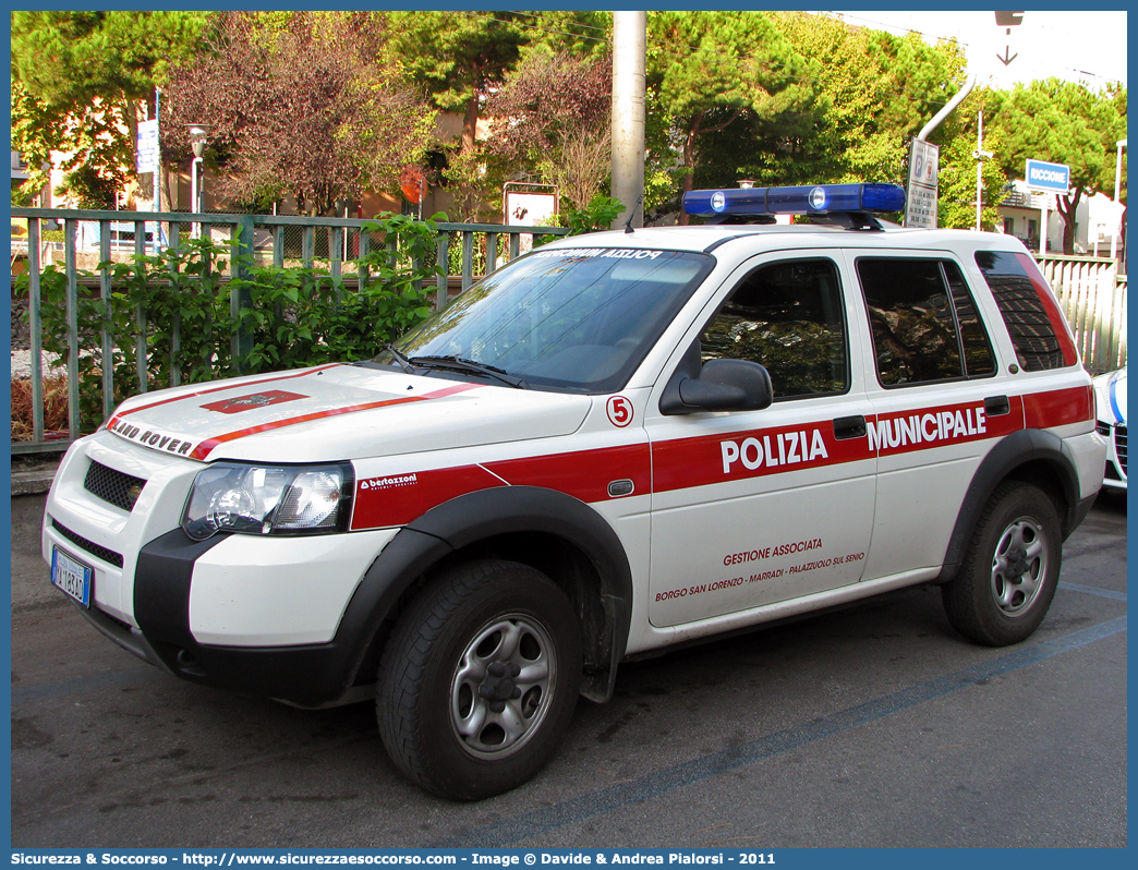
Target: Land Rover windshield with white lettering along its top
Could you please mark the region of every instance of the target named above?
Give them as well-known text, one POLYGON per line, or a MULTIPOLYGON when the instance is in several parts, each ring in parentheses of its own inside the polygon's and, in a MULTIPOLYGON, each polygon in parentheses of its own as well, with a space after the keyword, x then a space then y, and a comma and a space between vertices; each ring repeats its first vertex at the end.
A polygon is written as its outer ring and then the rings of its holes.
POLYGON ((477 363, 528 387, 611 393, 712 265, 706 254, 674 251, 537 251, 470 287, 396 342, 398 353, 374 361, 487 377, 477 363))

